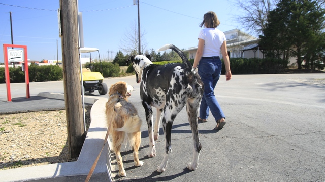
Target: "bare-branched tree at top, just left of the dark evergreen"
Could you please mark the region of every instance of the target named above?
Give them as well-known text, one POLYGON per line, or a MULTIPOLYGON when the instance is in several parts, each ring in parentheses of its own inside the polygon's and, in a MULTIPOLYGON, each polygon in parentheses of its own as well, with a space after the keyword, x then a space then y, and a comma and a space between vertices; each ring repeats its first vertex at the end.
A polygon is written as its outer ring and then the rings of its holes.
POLYGON ((233 4, 244 11, 236 20, 252 34, 261 34, 262 29, 266 28, 269 12, 278 2, 279 0, 236 0, 233 4))

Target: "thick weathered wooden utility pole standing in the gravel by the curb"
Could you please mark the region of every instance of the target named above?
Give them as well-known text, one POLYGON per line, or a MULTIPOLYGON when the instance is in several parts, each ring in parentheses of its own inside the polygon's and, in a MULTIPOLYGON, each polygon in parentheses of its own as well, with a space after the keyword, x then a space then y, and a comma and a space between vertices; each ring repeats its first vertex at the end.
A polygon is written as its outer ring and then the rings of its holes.
POLYGON ((85 140, 83 124, 77 0, 60 0, 64 99, 66 102, 69 153, 78 157, 85 140))

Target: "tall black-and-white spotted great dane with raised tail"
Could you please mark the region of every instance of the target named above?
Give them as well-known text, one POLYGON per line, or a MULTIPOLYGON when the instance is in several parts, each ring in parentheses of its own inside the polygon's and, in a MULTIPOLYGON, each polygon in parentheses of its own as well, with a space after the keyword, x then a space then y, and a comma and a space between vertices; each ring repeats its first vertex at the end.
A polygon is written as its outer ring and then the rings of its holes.
POLYGON ((130 56, 127 62, 133 64, 137 83, 140 85, 140 97, 146 112, 149 132, 149 157, 156 155, 155 140, 159 136, 161 113, 164 111, 163 130, 165 134, 164 160, 158 166, 158 172, 164 172, 167 167, 168 156, 171 149, 171 130, 176 115, 186 104, 188 122, 192 130, 194 141, 194 156, 187 168, 196 170, 201 151, 198 133, 198 113, 203 96, 204 85, 199 74, 193 69, 185 54, 175 45, 167 44, 159 51, 174 50, 183 60, 183 63, 166 65, 152 64, 150 55, 130 56), (157 118, 152 128, 152 108, 157 109, 157 118))

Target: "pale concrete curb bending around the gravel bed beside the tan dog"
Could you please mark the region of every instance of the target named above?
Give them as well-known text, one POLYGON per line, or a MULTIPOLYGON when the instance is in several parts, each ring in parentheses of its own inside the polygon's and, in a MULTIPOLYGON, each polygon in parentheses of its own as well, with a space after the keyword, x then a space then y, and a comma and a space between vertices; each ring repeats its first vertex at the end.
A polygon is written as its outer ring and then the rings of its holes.
MULTIPOLYGON (((38 96, 64 100, 63 94, 39 93, 38 96)), ((107 98, 85 96, 85 103, 93 103, 90 111, 91 123, 77 161, 1 170, 0 181, 28 181, 87 175, 93 162, 103 147, 107 132, 107 121, 105 114, 105 105, 107 100, 107 98)), ((93 174, 106 173, 111 181, 111 169, 110 142, 106 141, 106 145, 102 151, 99 162, 93 174)))

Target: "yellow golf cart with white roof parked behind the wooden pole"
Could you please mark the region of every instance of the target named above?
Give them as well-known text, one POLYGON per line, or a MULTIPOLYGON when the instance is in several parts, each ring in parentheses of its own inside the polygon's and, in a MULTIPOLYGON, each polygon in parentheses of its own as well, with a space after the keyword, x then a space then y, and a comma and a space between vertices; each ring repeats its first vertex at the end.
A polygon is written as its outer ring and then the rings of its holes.
MULTIPOLYGON (((108 88, 106 83, 103 83, 104 77, 103 74, 100 72, 93 72, 94 64, 91 63, 91 52, 98 52, 98 55, 100 55, 99 50, 97 48, 80 48, 81 53, 89 53, 90 55, 90 64, 86 66, 86 68, 83 68, 81 70, 82 78, 83 78, 83 88, 85 92, 92 93, 95 90, 98 90, 100 95, 107 94, 108 88)), ((102 72, 102 62, 101 58, 100 65, 101 65, 101 72, 102 72)), ((80 82, 81 82, 81 76, 80 76, 80 82)))

